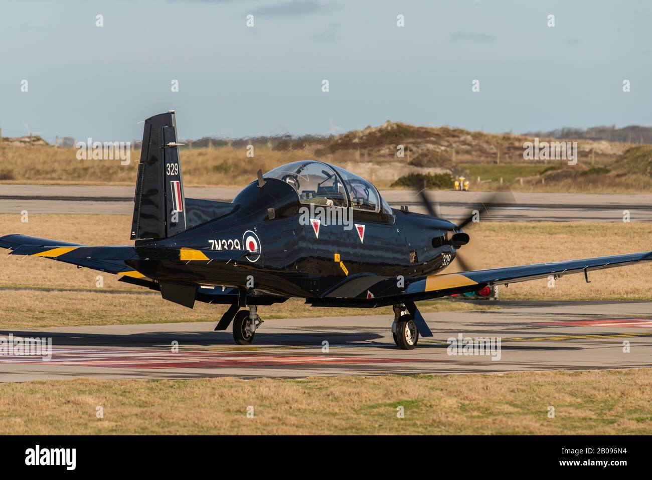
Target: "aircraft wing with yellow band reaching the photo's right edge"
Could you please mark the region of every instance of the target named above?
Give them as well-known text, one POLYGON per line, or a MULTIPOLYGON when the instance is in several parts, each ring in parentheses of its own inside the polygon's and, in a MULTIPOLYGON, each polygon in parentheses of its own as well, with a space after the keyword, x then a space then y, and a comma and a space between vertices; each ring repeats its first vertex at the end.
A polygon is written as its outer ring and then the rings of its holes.
POLYGON ((582 258, 565 262, 533 263, 461 273, 443 273, 419 278, 351 276, 318 298, 306 299, 315 307, 342 306, 373 308, 397 303, 445 297, 452 293, 475 292, 487 285, 526 282, 550 275, 588 273, 593 270, 651 262, 652 252, 582 258))

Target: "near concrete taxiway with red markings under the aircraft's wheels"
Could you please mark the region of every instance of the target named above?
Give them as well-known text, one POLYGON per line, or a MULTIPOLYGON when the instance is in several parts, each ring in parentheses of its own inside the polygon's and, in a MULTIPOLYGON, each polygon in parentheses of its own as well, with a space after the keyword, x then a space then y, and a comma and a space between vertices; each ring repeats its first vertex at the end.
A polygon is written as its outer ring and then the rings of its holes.
MULTIPOLYGON (((213 331, 216 322, 3 330, 0 336, 5 338, 10 333, 52 337, 53 348, 50 361, 0 357, 0 382, 461 374, 652 365, 652 303, 515 305, 425 314, 435 336, 421 338, 415 350, 394 346, 391 316, 385 315, 267 320, 254 344, 246 347, 233 344, 230 330, 213 331), (450 355, 447 339, 459 334, 500 338, 500 349, 494 355, 450 355), (178 352, 173 352, 173 342, 178 342, 178 352), (327 351, 323 342, 328 342, 327 351), (624 342, 629 342, 629 352, 623 351, 624 342)), ((264 308, 259 312, 264 320, 264 308)))

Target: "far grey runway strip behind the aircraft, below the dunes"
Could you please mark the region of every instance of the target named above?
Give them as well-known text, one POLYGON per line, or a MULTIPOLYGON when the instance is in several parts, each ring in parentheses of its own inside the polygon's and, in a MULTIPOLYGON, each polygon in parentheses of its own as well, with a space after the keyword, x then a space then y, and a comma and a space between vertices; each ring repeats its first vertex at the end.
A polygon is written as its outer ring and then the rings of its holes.
MULTIPOLYGON (((230 202, 239 187, 186 187, 190 198, 230 202)), ((415 192, 381 190, 393 207, 407 205, 425 213, 415 192)), ((491 192, 434 192, 440 214, 452 221, 466 217, 491 192)), ((134 187, 93 185, 0 185, 0 213, 102 213, 132 215, 134 187)), ((514 203, 492 210, 492 220, 552 222, 652 222, 652 194, 514 193, 514 203)))

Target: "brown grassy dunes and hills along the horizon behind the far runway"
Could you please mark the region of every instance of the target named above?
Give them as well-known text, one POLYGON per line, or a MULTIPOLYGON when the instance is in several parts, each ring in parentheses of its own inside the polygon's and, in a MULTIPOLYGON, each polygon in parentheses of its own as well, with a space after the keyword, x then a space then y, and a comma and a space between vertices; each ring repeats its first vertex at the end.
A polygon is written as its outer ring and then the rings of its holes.
MULTIPOLYGON (((627 131, 629 141, 627 129, 600 128, 609 130, 611 138, 616 136, 614 132, 627 131)), ((632 130, 630 144, 580 138, 580 134, 572 133, 597 136, 599 128, 526 136, 386 121, 329 136, 182 139, 185 145, 181 147, 181 157, 187 185, 246 185, 256 178, 258 169, 267 172, 289 162, 320 158, 362 175, 379 188, 449 188, 452 176, 463 175, 471 182, 471 190, 509 186, 513 190, 546 192, 652 191, 652 145, 634 143, 634 132, 640 132, 641 142, 652 143, 651 129, 628 128, 640 129, 632 130), (535 136, 541 142, 577 141, 578 162, 569 165, 560 159, 524 158, 526 142, 535 136), (249 144, 254 145, 251 151, 249 144)), ((140 152, 132 154, 126 166, 111 160, 87 162, 76 158, 74 148, 47 145, 36 136, 31 142, 29 136, 2 140, 0 183, 132 185, 140 158, 140 152)), ((140 142, 135 146, 140 148, 140 142)))

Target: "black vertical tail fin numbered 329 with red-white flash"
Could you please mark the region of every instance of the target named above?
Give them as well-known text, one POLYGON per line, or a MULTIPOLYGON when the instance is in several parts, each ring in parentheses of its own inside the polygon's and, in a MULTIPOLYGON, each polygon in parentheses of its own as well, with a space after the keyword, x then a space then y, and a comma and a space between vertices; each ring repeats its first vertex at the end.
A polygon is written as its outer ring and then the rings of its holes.
POLYGON ((131 239, 160 239, 186 230, 174 111, 145 120, 131 239))

